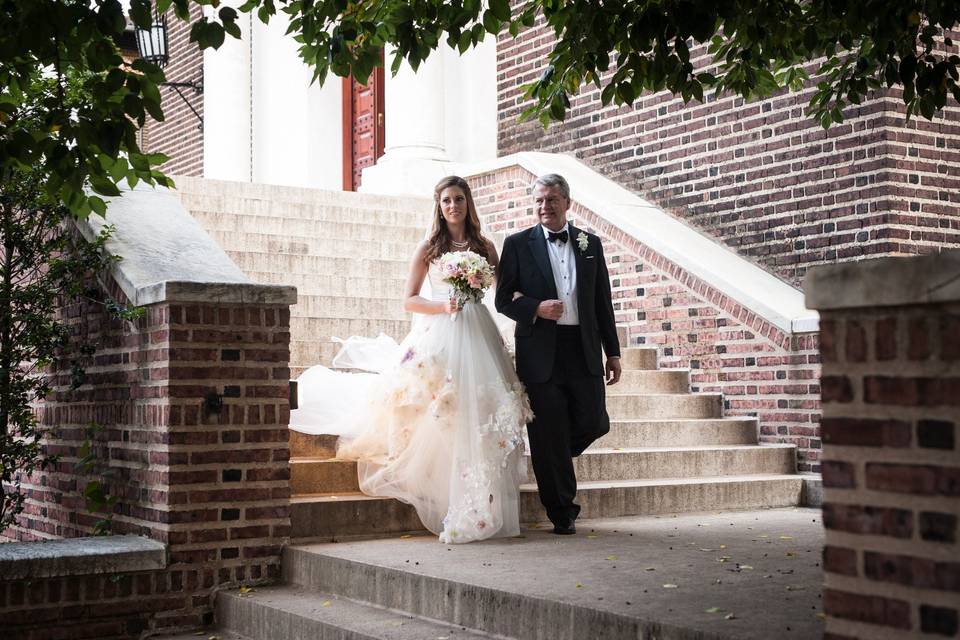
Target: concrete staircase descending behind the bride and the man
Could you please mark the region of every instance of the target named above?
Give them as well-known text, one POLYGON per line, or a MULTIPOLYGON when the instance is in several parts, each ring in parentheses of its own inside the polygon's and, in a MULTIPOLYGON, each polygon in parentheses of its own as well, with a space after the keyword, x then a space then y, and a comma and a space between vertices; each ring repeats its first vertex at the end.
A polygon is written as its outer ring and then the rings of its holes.
MULTIPOLYGON (((177 183, 184 206, 248 276, 298 287, 292 377, 330 363, 331 336, 400 339, 409 330, 401 292, 431 201, 177 183)), ((623 380, 607 398, 611 431, 576 461, 582 518, 800 504, 793 445, 758 445, 755 419, 724 417, 719 394, 690 393, 689 371, 657 369, 655 349, 623 356, 623 380)), ((408 505, 359 493, 355 463, 334 458, 335 438, 291 432, 290 446, 294 539, 422 529, 408 505)), ((545 519, 532 472, 521 500, 523 521, 545 519)))

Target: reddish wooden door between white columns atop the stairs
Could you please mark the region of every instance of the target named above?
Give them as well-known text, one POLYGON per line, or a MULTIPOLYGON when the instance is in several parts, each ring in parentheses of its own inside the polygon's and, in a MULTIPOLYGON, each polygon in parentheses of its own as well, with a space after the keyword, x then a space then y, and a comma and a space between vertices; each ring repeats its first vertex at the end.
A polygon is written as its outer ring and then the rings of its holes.
POLYGON ((383 155, 383 67, 367 84, 343 79, 343 189, 356 191, 365 167, 383 155))

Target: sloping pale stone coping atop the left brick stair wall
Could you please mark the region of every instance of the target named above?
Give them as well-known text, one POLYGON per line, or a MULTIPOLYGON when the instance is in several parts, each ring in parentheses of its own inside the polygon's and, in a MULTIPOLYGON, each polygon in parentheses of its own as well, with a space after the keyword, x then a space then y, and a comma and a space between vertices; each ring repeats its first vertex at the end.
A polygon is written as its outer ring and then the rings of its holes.
POLYGON ((120 197, 108 199, 106 218, 90 216, 76 225, 87 240, 106 225, 115 227, 107 249, 123 259, 112 275, 131 303, 296 303, 295 287, 251 281, 169 189, 140 183, 120 190, 120 197))

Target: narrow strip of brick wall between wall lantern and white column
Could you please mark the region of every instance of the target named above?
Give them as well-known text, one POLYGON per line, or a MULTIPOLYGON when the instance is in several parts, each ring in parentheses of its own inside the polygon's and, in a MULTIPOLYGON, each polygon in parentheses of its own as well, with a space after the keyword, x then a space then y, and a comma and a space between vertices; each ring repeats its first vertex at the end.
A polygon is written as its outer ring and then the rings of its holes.
MULTIPOLYGON (((192 20, 199 18, 202 8, 191 3, 192 20)), ((203 80, 203 53, 190 42, 190 23, 183 22, 171 10, 167 14, 167 38, 170 62, 164 72, 168 82, 201 82, 203 80)), ((230 36, 227 36, 228 38, 230 36)), ((203 94, 181 88, 189 104, 202 117, 203 94)), ((173 87, 160 87, 165 120, 156 122, 147 118, 142 130, 142 147, 149 153, 165 153, 170 157, 160 168, 168 175, 203 176, 203 130, 200 120, 190 110, 173 87)))

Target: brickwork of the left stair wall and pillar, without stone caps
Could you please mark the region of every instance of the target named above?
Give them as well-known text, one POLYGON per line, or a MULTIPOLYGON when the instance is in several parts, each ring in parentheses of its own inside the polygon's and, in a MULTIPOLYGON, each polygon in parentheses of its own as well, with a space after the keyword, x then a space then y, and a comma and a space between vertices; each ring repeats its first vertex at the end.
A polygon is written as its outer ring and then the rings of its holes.
POLYGON ((135 323, 91 303, 64 312, 73 339, 97 351, 77 391, 67 388, 68 365, 51 373, 56 391, 38 411, 60 460, 25 483, 27 509, 6 534, 91 533, 101 516, 84 508, 88 478, 75 467, 84 427, 96 421, 106 486, 120 498, 114 532, 167 544, 169 565, 30 584, 0 578, 4 631, 107 638, 209 622, 216 588, 279 576, 289 537, 289 307, 170 301, 135 323))

